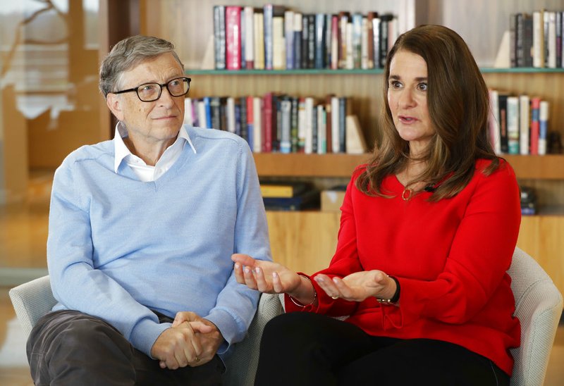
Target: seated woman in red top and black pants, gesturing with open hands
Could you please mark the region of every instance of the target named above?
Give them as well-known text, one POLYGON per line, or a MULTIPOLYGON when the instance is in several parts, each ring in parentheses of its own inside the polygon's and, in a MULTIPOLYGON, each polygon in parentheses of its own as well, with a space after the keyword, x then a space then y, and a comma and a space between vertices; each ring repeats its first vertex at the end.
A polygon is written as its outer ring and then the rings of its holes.
POLYGON ((509 384, 520 198, 482 75, 460 36, 426 25, 398 38, 385 79, 383 139, 350 180, 329 268, 233 255, 238 282, 286 293, 257 385, 509 384))

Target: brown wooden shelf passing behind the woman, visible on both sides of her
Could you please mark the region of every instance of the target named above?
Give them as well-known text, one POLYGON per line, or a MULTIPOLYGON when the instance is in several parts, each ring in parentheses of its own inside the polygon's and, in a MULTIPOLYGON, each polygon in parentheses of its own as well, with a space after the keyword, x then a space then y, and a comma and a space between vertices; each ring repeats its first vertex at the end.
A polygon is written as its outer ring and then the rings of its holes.
MULTIPOLYGON (((280 154, 255 153, 260 176, 350 177, 355 167, 371 154, 280 154)), ((564 180, 564 155, 513 156, 504 154, 517 178, 564 180)))

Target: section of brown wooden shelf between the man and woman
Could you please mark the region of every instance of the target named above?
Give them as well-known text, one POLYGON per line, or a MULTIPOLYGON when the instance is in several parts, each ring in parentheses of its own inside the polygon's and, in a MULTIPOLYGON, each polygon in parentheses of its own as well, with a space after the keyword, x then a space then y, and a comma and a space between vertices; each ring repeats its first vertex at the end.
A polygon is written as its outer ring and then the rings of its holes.
POLYGON ((350 177, 371 154, 255 153, 260 176, 350 177))

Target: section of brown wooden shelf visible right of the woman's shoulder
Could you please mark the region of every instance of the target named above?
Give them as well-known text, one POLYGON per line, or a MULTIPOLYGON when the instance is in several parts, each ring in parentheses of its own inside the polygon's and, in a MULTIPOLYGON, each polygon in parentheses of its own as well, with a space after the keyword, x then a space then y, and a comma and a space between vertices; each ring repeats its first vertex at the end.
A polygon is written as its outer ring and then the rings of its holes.
POLYGON ((513 166, 517 178, 564 180, 564 155, 510 156, 504 154, 503 158, 513 166))

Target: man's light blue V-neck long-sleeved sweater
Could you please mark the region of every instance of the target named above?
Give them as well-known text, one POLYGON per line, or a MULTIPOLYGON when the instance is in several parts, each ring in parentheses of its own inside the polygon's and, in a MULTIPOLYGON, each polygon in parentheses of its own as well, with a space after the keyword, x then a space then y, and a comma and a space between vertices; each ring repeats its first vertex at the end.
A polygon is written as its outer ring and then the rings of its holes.
POLYGON ((141 182, 111 141, 81 147, 56 170, 47 263, 59 301, 108 321, 150 356, 172 318, 194 311, 228 345, 245 337, 258 292, 235 281, 231 254, 271 259, 266 215, 247 143, 186 127, 188 144, 156 181, 141 182))

